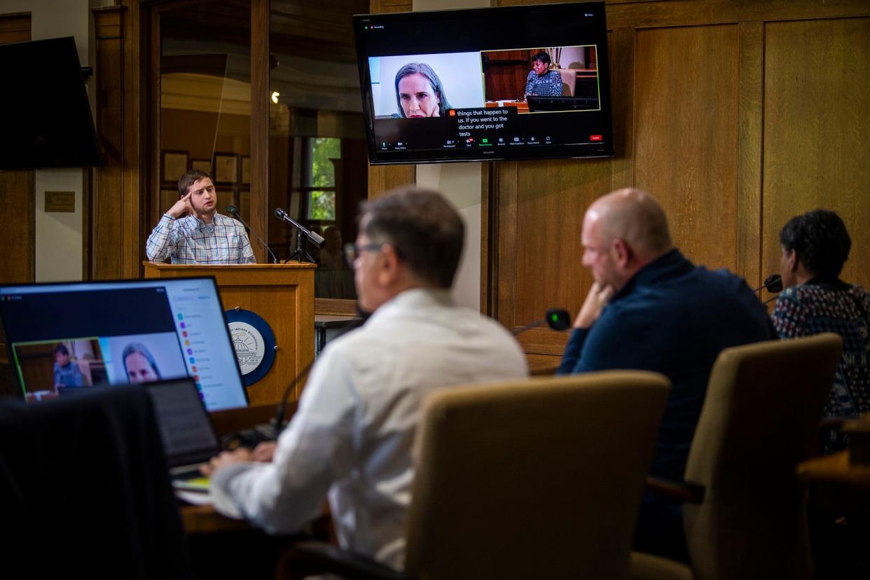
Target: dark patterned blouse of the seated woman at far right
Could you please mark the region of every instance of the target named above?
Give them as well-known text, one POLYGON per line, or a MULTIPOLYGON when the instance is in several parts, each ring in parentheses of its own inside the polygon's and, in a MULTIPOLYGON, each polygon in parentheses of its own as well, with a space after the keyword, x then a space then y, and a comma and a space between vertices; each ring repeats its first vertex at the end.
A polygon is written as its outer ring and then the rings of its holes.
POLYGON ((782 338, 836 332, 843 353, 825 405, 827 417, 857 417, 870 411, 870 293, 836 280, 811 280, 783 290, 773 309, 773 326, 782 338))

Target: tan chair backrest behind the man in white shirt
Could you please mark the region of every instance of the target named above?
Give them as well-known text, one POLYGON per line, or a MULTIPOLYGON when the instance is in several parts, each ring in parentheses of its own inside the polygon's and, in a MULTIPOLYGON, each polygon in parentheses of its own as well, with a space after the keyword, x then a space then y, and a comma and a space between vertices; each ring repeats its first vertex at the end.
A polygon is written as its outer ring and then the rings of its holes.
POLYGON ((439 390, 419 427, 405 570, 625 578, 666 377, 606 371, 439 390))

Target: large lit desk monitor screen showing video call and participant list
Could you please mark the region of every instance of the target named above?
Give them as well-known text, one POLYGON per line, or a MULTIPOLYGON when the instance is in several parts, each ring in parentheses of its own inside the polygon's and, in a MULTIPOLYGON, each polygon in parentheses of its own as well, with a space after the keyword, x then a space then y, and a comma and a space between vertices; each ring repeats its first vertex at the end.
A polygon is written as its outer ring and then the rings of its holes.
POLYGON ((208 410, 247 404, 212 277, 0 286, 23 397, 192 377, 208 410))

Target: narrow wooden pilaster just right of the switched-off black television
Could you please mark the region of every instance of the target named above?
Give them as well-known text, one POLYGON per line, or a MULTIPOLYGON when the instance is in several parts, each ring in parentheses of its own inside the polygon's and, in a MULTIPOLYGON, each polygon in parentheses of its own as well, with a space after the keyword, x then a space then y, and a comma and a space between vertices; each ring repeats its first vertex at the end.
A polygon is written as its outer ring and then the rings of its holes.
POLYGON ((94 279, 124 277, 123 7, 93 10, 97 40, 97 136, 103 165, 94 170, 90 226, 94 279))

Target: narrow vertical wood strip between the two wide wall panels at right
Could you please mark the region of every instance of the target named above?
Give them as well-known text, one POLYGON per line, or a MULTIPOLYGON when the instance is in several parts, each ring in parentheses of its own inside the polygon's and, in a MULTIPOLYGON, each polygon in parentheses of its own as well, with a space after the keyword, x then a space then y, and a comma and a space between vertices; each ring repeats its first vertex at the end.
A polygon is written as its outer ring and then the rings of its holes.
POLYGON ((761 269, 761 123, 764 96, 764 24, 740 23, 737 95, 737 257, 733 270, 753 288, 761 269))

